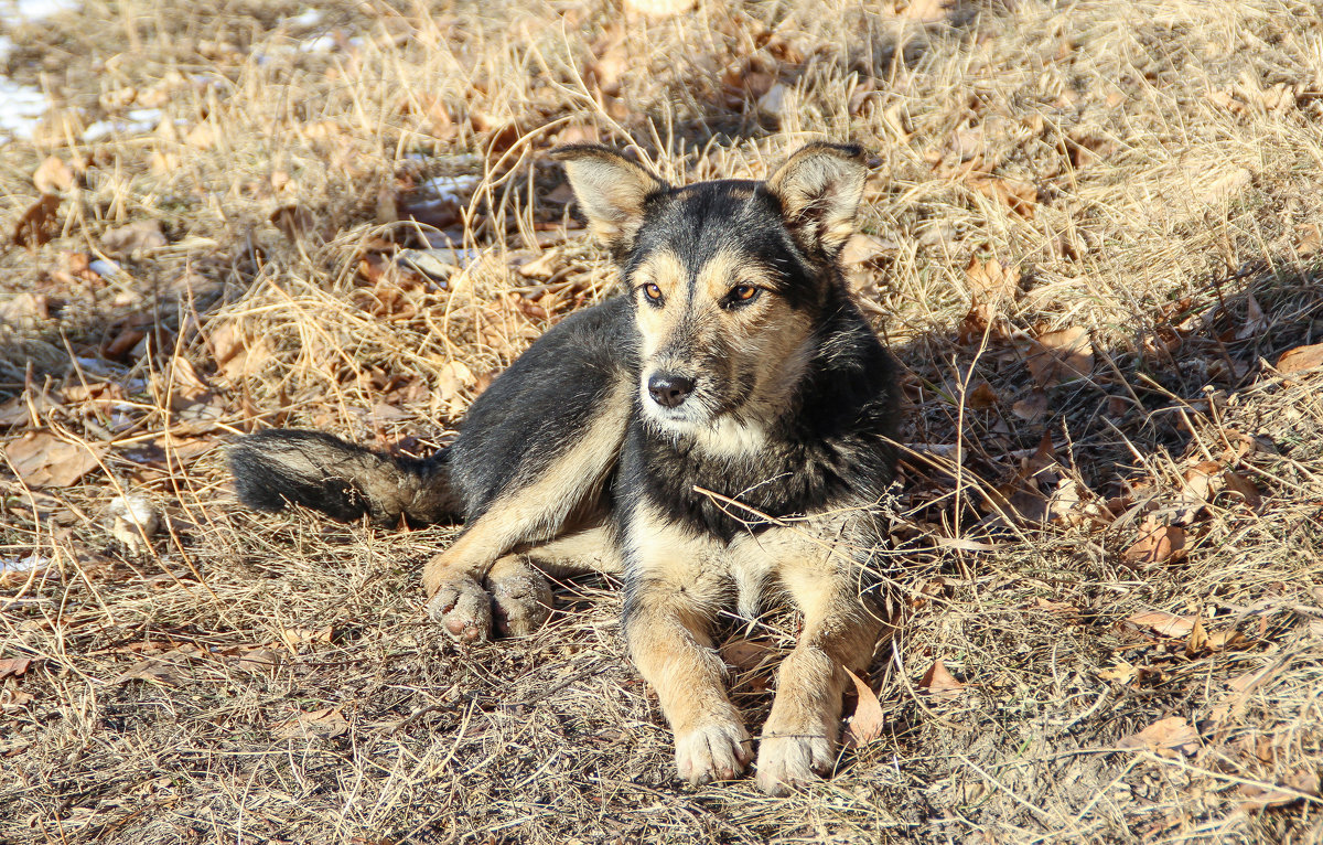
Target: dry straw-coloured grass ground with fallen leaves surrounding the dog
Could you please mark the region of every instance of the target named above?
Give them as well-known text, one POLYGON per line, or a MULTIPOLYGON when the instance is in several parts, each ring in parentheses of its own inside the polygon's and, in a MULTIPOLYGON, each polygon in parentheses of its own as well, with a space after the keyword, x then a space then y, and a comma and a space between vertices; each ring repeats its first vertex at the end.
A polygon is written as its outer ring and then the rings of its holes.
MULTIPOLYGON (((1316 4, 21 5, 0 841, 1323 842, 1316 4), (425 453, 611 295, 554 144, 819 136, 876 159, 847 264, 909 403, 831 779, 676 783, 614 583, 460 648, 452 530, 235 505, 228 438, 425 453)), ((751 724, 795 625, 729 625, 751 724)))

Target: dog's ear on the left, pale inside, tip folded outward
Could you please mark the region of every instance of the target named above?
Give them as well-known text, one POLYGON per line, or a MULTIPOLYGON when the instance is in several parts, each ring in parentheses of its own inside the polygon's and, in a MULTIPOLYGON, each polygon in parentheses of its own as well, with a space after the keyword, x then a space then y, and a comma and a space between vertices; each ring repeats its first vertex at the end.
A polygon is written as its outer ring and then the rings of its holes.
POLYGON ((552 150, 565 163, 570 187, 587 216, 589 228, 615 254, 628 252, 643 225, 643 207, 671 185, 619 152, 597 144, 552 150))

